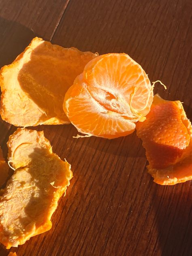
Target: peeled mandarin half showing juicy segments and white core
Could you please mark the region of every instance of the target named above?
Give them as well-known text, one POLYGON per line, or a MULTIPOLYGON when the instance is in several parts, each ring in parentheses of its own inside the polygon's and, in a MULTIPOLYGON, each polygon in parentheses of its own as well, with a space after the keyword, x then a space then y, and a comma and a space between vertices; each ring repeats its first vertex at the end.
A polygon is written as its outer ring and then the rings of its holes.
POLYGON ((66 92, 63 108, 79 132, 113 139, 132 133, 152 100, 141 66, 125 53, 109 53, 87 63, 66 92))

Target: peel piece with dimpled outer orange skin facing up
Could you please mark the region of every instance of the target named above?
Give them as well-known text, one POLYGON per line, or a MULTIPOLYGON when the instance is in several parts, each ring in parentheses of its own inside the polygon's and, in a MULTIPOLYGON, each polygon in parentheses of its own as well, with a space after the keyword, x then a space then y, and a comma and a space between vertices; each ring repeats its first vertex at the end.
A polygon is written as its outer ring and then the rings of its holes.
POLYGON ((180 101, 156 94, 146 120, 136 129, 156 183, 174 185, 192 179, 192 126, 180 101))

